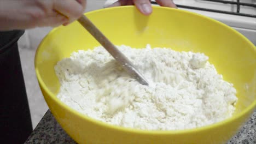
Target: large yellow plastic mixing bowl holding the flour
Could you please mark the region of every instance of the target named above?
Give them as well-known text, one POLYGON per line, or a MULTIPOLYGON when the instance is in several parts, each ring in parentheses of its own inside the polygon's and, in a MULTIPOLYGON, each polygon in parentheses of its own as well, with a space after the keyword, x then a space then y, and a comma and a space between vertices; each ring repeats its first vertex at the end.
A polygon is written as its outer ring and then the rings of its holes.
MULTIPOLYGON (((224 143, 249 118, 256 105, 256 49, 234 29, 205 16, 184 10, 154 7, 144 16, 135 7, 117 7, 86 13, 115 45, 171 47, 203 52, 219 74, 234 83, 238 103, 234 116, 206 127, 147 131, 117 127, 71 109, 56 94, 60 83, 54 66, 77 50, 100 44, 78 22, 51 31, 40 43, 35 67, 40 88, 62 128, 78 143, 224 143)), ((86 95, 85 95, 86 97, 86 95)))

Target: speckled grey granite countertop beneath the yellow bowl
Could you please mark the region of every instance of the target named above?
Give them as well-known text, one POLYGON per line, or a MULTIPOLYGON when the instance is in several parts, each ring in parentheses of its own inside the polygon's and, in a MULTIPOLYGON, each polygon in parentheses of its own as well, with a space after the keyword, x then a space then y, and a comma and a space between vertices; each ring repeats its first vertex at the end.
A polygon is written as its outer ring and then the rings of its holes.
MULTIPOLYGON (((56 122, 54 116, 48 110, 44 117, 41 119, 33 133, 28 137, 27 143, 76 143, 66 132, 61 128, 59 123, 56 122)), ((228 142, 242 143, 242 144, 255 144, 256 143, 256 110, 243 125, 240 131, 232 137, 228 142)))

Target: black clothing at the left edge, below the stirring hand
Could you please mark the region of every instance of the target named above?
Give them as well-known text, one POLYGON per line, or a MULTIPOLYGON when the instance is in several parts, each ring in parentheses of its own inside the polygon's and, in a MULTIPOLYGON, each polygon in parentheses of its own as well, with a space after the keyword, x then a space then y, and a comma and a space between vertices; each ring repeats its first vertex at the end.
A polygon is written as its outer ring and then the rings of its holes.
POLYGON ((24 143, 32 132, 17 44, 23 33, 0 32, 0 143, 24 143))

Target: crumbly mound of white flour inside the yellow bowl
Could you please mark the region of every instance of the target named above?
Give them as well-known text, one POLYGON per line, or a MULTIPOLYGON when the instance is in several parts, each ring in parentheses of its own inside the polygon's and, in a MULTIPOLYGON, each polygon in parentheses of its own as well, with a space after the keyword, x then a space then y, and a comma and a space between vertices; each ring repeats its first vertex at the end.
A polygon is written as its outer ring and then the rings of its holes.
POLYGON ((203 53, 118 46, 149 81, 138 83, 103 49, 72 53, 55 66, 63 103, 123 127, 176 130, 222 121, 235 111, 236 89, 203 53))

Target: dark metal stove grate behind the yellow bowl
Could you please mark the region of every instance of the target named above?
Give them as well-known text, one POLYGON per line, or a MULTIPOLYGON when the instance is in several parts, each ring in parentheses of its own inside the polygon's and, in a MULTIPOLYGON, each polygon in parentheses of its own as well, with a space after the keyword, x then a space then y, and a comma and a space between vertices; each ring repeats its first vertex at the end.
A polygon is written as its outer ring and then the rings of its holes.
MULTIPOLYGON (((224 4, 236 5, 237 6, 236 7, 236 12, 224 11, 224 10, 216 10, 216 9, 207 9, 207 8, 199 8, 199 7, 190 7, 190 6, 187 6, 187 5, 180 5, 180 4, 177 4, 177 7, 178 8, 196 9, 196 10, 203 10, 203 11, 211 11, 211 12, 215 12, 215 13, 240 15, 240 16, 247 16, 247 17, 255 17, 256 18, 256 15, 240 13, 240 5, 256 8, 256 4, 242 3, 242 2, 240 2, 240 0, 236 0, 236 2, 224 1, 224 0, 201 0, 201 1, 209 1, 209 2, 216 2, 216 3, 224 3, 224 4)), ((151 2, 151 3, 152 4, 157 4, 156 2, 151 2)))

